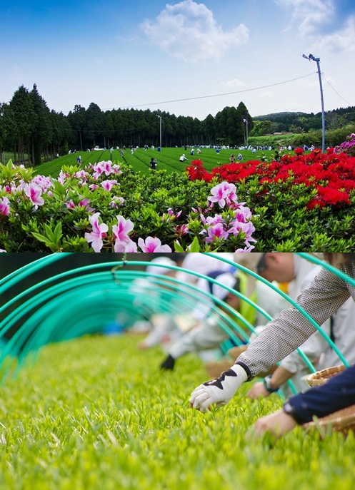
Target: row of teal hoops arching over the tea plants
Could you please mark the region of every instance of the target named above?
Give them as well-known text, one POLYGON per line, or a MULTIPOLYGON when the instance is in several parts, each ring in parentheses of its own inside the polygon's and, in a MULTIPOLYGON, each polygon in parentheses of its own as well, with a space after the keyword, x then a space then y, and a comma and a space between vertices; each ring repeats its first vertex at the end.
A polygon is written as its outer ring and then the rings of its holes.
MULTIPOLYGON (((0 307, 0 340, 2 346, 0 367, 3 378, 9 372, 13 372, 13 363, 9 362, 9 359, 18 359, 16 368, 19 368, 25 359, 36 359, 36 352, 45 344, 102 332, 105 325, 109 325, 117 318, 119 318, 122 329, 126 330, 134 321, 149 318, 156 313, 177 315, 181 312, 191 311, 196 305, 196 300, 214 301, 212 311, 218 311, 219 327, 226 332, 234 344, 239 345, 247 342, 250 333, 256 333, 253 325, 239 312, 233 310, 237 322, 231 320, 229 315, 224 314, 219 307, 223 306, 230 312, 232 311, 231 308, 222 300, 213 297, 211 292, 202 292, 196 285, 182 282, 174 277, 139 270, 139 267, 144 269, 149 265, 149 260, 133 261, 123 258, 119 261, 91 263, 84 267, 72 267, 65 272, 36 281, 39 271, 46 267, 50 268, 55 262, 68 255, 71 254, 46 255, 1 279, 1 292, 3 295, 6 292, 6 298, 9 298, 0 307), (26 287, 26 281, 29 277, 34 283, 26 287), (21 292, 18 292, 19 286, 21 287, 22 284, 25 286, 21 292), (164 295, 157 295, 156 292, 161 289, 164 290, 164 295), (12 290, 15 291, 13 295, 12 290)), ((218 257, 218 254, 206 255, 218 257)), ((355 285, 355 281, 350 277, 314 257, 314 255, 307 253, 299 253, 298 255, 317 265, 326 267, 346 282, 355 285)), ((254 280, 264 282, 283 296, 314 325, 316 330, 321 332, 341 362, 349 366, 334 342, 288 295, 243 265, 231 262, 224 257, 219 257, 219 260, 226 262, 235 270, 241 270, 246 275, 253 277, 254 280)), ((174 265, 161 265, 159 267, 182 270, 186 274, 203 278, 224 287, 246 302, 249 307, 259 312, 265 318, 265 322, 272 320, 269 313, 262 310, 249 297, 230 287, 221 285, 211 277, 174 265)), ((309 367, 310 372, 314 372, 313 364, 301 352, 301 349, 299 349, 299 354, 309 367)), ((291 383, 290 386, 293 389, 291 383)))

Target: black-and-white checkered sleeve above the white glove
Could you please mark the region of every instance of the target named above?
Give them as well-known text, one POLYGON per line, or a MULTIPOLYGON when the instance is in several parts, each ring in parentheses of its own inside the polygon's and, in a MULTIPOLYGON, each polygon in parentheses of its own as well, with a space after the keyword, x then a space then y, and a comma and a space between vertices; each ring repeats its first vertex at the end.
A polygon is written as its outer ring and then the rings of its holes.
MULTIPOLYGON (((354 278, 354 264, 344 272, 354 278)), ((297 302, 318 325, 322 325, 349 296, 355 298, 355 288, 333 272, 323 269, 311 285, 301 292, 297 302)), ((304 314, 291 306, 266 325, 259 337, 236 359, 236 364, 244 367, 250 380, 291 354, 315 331, 315 327, 304 314)))

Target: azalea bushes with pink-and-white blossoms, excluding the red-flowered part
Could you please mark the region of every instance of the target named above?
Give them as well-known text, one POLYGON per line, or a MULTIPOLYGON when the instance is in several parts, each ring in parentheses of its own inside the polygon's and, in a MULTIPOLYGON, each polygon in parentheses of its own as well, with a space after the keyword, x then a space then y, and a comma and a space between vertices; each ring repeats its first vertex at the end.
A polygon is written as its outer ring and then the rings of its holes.
POLYGON ((164 170, 146 177, 111 161, 64 167, 57 179, 10 161, 0 165, 0 249, 248 251, 255 241, 251 211, 235 190, 164 170))

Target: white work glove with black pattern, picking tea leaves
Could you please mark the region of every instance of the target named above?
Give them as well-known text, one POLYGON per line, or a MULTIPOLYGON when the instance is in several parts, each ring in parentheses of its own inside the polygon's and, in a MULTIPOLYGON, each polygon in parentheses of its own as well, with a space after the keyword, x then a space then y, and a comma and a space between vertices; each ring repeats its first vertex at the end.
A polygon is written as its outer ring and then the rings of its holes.
POLYGON ((222 372, 219 378, 200 384, 194 389, 189 399, 190 407, 206 412, 214 403, 216 407, 226 405, 247 378, 243 367, 234 364, 231 369, 222 372))

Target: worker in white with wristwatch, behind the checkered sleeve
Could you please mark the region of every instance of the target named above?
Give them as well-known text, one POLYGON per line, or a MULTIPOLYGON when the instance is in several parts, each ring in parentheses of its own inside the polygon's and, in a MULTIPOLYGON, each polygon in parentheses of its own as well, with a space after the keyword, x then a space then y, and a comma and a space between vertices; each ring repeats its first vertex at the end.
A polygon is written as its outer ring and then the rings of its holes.
MULTIPOLYGON (((289 297, 291 300, 296 300, 301 290, 309 287, 316 274, 320 272, 321 266, 314 265, 309 260, 305 260, 294 253, 268 252, 262 255, 257 270, 261 277, 270 282, 287 282, 289 297)), ((322 328, 326 335, 330 335, 329 320, 322 325, 322 328)), ((316 332, 300 346, 300 349, 315 364, 319 361, 326 344, 324 337, 316 332)), ((319 369, 318 365, 316 365, 316 369, 319 369)), ((272 375, 267 376, 264 382, 254 384, 248 393, 248 397, 251 399, 264 397, 276 392, 279 388, 285 396, 289 396, 291 392, 289 386, 285 384, 289 379, 292 380, 297 392, 304 391, 309 389, 308 384, 303 379, 306 374, 309 374, 309 368, 300 354, 294 351, 282 359, 280 366, 272 375)))

